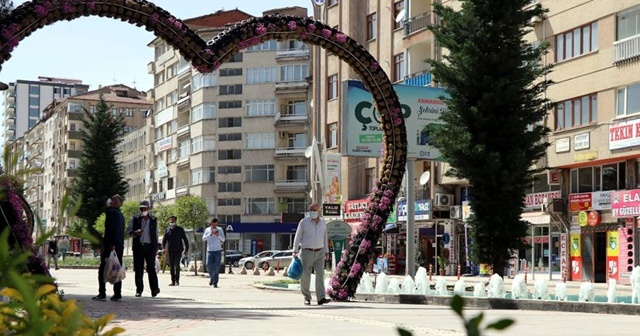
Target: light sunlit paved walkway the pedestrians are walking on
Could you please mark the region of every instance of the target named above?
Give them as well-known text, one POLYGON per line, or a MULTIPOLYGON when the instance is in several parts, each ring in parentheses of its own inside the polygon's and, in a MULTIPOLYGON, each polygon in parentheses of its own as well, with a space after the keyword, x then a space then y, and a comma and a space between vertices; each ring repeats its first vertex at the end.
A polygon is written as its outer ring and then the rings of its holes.
MULTIPOLYGON (((133 273, 123 284, 121 302, 92 301, 97 294, 97 270, 53 271, 67 299, 77 300, 92 317, 117 315, 110 326, 124 335, 397 335, 403 326, 414 335, 459 336, 460 320, 447 307, 364 302, 332 302, 304 306, 299 292, 255 288, 256 282, 284 279, 282 274, 222 274, 220 288, 209 279, 182 272, 180 286, 169 287, 169 273, 160 273, 161 293, 134 297, 133 273)), ((449 281, 451 284, 455 278, 449 281)), ((147 279, 145 276, 145 284, 147 279)), ((107 286, 107 296, 112 294, 107 286)), ((469 309, 467 314, 477 313, 469 309)), ((512 317, 516 325, 491 335, 637 335, 637 317, 563 312, 485 311, 487 321, 512 317)))

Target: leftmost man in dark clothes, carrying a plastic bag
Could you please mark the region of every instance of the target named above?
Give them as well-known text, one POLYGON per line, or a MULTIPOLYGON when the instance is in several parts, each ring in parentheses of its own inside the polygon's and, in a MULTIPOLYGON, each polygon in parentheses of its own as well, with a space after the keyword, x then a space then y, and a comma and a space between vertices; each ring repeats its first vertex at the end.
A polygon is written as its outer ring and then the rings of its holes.
MULTIPOLYGON (((122 197, 113 195, 111 203, 105 211, 104 220, 104 237, 102 238, 102 253, 100 256, 100 268, 98 269, 98 295, 94 296, 94 300, 104 301, 107 298, 106 283, 104 281, 104 266, 111 251, 116 251, 120 265, 122 264, 122 252, 124 250, 124 216, 120 211, 122 206, 122 197)), ((111 301, 122 300, 122 281, 113 284, 113 296, 111 301)))

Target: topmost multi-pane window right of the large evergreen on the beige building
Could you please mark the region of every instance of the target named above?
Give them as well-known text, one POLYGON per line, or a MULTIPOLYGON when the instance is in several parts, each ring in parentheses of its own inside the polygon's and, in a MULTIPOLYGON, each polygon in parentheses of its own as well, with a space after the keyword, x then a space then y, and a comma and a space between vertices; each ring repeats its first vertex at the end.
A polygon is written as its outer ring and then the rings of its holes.
POLYGON ((556 35, 556 62, 598 50, 598 22, 556 35))

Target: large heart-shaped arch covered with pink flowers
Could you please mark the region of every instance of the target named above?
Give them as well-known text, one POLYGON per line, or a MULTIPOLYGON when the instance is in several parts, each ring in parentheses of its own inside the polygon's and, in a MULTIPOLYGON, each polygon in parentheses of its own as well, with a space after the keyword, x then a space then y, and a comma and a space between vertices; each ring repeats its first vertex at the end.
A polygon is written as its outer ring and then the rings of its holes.
POLYGON ((407 156, 406 129, 398 96, 375 58, 349 36, 309 18, 256 17, 204 41, 180 19, 145 0, 34 0, 20 5, 0 21, 0 66, 11 57, 18 43, 34 31, 83 16, 109 17, 145 27, 177 49, 199 72, 214 71, 239 50, 272 39, 294 39, 320 46, 355 70, 374 98, 384 134, 380 179, 370 194, 368 210, 352 237, 351 247, 343 253, 327 288, 334 299, 352 298, 364 265, 375 256, 375 243, 393 209, 407 156))

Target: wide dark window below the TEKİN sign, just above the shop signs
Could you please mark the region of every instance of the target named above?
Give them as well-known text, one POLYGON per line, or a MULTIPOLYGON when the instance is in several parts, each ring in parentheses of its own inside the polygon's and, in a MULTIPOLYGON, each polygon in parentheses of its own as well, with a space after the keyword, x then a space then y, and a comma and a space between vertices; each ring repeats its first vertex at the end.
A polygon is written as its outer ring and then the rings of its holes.
POLYGON ((571 193, 625 189, 626 162, 571 170, 571 193))

